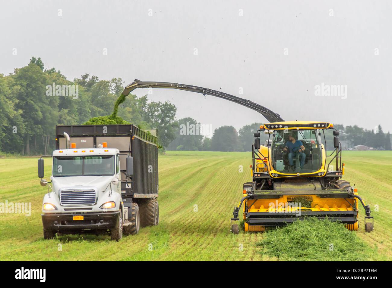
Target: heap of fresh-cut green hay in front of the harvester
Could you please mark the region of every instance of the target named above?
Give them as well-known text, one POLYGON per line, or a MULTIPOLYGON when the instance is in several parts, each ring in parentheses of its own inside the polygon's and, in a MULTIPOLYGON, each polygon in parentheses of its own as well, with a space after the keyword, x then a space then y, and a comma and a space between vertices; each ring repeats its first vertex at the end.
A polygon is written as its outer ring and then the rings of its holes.
POLYGON ((261 253, 278 260, 361 261, 371 248, 345 225, 315 217, 296 221, 283 228, 268 230, 256 243, 261 253))

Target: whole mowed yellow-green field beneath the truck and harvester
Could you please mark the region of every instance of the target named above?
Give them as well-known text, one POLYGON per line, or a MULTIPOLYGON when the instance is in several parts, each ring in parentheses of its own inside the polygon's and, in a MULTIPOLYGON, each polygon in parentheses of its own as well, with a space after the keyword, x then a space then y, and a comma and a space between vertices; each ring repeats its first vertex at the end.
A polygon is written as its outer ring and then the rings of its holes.
MULTIPOLYGON (((109 236, 93 235, 44 240, 41 206, 47 188, 39 184, 37 158, 0 159, 0 202, 31 202, 29 217, 0 214, 0 260, 346 260, 347 254, 354 256, 350 259, 392 260, 392 152, 343 153, 344 178, 356 184, 359 195, 370 204, 374 231, 365 233, 361 207, 359 231, 332 238, 339 250, 335 254, 328 254, 325 241, 315 245, 314 254, 303 254, 295 241, 279 241, 276 230, 263 234, 229 232, 232 210, 242 197, 242 184, 251 180, 250 162, 250 152, 169 151, 160 155, 159 225, 114 242, 109 236)), ((45 164, 49 178, 50 159, 45 159, 45 164)), ((304 241, 307 235, 327 237, 325 232, 309 227, 301 228, 304 241)), ((296 229, 287 230, 291 239, 295 239, 296 229)))

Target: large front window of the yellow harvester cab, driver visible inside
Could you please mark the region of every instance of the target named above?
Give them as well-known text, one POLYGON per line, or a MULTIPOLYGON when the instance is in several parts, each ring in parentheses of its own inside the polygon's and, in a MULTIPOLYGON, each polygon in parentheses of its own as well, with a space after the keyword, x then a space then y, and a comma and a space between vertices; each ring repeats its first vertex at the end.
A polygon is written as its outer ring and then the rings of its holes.
POLYGON ((276 171, 312 173, 320 169, 322 154, 316 130, 277 130, 272 137, 271 157, 276 171), (295 138, 294 144, 290 143, 290 136, 295 138), (304 151, 299 148, 301 145, 304 151))

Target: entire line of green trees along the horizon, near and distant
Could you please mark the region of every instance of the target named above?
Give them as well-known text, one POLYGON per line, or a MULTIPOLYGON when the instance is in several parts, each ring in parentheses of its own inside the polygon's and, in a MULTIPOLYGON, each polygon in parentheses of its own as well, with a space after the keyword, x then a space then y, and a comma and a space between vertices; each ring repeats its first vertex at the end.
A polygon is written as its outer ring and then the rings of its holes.
MULTIPOLYGON (((121 78, 100 80, 90 74, 70 81, 60 70, 45 69, 42 60, 35 57, 8 76, 0 74, 0 153, 51 153, 56 125, 80 125, 92 117, 111 115, 123 86, 121 78)), ((238 131, 221 126, 209 138, 203 136, 209 126, 190 117, 177 121, 176 111, 168 101, 154 102, 147 95, 129 94, 117 115, 142 129, 158 129, 160 145, 169 150, 250 151, 253 134, 263 124, 254 122, 238 131)), ((345 148, 362 144, 391 149, 390 133, 384 133, 381 125, 373 130, 341 124, 335 128, 345 148)), ((261 134, 262 143, 267 139, 268 135, 261 134)), ((327 132, 328 146, 332 139, 332 132, 327 132)))

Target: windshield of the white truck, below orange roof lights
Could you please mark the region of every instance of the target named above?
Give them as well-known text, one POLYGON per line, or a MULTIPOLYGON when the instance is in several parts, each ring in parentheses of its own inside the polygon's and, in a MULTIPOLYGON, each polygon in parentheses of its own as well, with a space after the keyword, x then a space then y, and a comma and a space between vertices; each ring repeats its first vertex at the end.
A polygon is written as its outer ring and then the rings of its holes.
POLYGON ((114 155, 56 156, 53 158, 53 176, 113 176, 114 155))

